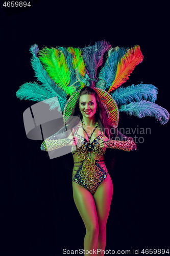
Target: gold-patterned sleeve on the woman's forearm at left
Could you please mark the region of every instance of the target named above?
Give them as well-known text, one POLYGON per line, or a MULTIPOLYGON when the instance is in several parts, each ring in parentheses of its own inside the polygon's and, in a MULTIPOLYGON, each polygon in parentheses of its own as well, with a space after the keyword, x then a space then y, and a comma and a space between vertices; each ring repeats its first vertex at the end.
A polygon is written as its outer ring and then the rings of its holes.
POLYGON ((46 139, 42 142, 42 146, 44 147, 45 151, 52 151, 62 146, 67 146, 70 141, 71 141, 70 139, 60 139, 60 140, 46 139))

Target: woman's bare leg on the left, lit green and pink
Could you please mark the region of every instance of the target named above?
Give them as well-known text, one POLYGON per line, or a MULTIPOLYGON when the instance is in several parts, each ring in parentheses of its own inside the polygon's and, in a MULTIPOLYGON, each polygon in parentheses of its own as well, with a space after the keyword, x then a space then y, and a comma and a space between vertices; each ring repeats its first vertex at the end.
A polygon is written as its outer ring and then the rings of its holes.
MULTIPOLYGON (((76 182, 72 182, 73 196, 76 207, 82 217, 86 227, 86 235, 84 238, 84 250, 90 251, 85 255, 93 255, 93 249, 98 248, 99 224, 96 213, 94 198, 91 193, 76 182)), ((96 255, 94 253, 94 255, 96 255)))

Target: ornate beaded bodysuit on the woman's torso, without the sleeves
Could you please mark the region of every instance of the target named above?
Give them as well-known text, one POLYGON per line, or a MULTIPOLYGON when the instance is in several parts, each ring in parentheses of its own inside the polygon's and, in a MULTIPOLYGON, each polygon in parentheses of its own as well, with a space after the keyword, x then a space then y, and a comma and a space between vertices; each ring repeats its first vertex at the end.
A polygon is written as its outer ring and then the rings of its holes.
MULTIPOLYGON (((83 126, 80 127, 83 128, 83 126)), ((103 161, 103 154, 106 149, 99 146, 99 141, 103 136, 99 135, 90 143, 91 136, 97 127, 94 128, 90 136, 83 128, 88 136, 88 141, 76 133, 75 136, 78 138, 78 143, 75 150, 72 147, 72 155, 74 157, 72 181, 85 187, 91 194, 95 193, 98 186, 108 175, 108 170, 103 161), (79 145, 79 143, 81 144, 79 145)))

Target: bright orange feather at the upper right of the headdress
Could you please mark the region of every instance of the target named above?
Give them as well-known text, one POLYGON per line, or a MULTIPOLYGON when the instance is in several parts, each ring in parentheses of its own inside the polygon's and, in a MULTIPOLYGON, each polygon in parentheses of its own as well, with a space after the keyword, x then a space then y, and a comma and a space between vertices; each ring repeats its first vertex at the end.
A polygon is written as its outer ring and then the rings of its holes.
POLYGON ((117 72, 115 79, 110 86, 108 93, 111 93, 124 82, 129 79, 130 74, 134 70, 135 66, 138 65, 143 60, 143 55, 140 51, 139 46, 135 46, 127 51, 125 55, 120 59, 117 65, 117 72))

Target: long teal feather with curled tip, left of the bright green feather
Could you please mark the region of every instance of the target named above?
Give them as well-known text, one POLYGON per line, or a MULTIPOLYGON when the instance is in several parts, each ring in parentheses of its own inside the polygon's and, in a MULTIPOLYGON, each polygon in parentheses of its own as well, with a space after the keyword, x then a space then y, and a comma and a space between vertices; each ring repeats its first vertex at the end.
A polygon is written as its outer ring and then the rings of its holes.
MULTIPOLYGON (((57 84, 48 76, 45 69, 43 69, 39 58, 36 57, 38 50, 39 49, 36 44, 30 48, 30 52, 33 54, 31 58, 31 65, 35 71, 35 76, 37 77, 37 80, 42 83, 41 88, 44 87, 44 89, 51 93, 52 97, 58 97, 60 108, 63 111, 67 101, 66 93, 57 86, 57 84)), ((52 106, 51 109, 53 109, 52 106)))

